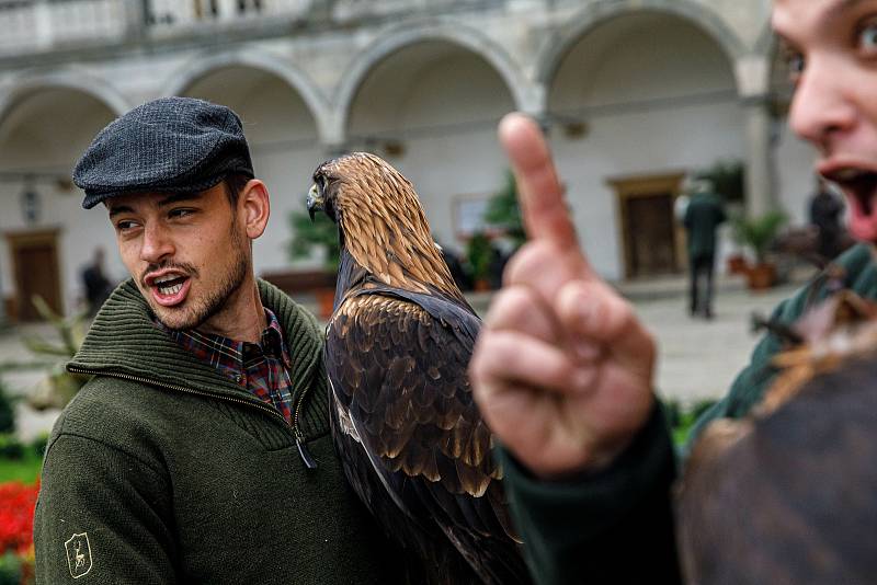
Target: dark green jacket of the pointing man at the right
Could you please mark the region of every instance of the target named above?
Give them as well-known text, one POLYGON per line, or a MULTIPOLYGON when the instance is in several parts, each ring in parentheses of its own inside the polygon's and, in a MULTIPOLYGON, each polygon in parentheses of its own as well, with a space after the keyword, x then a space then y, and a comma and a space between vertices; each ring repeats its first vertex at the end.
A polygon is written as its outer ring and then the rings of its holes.
MULTIPOLYGON (((859 244, 835 264, 845 271, 846 288, 877 299, 870 246, 859 244)), ((783 301, 772 318, 790 324, 829 292, 820 276, 783 301)), ((695 438, 710 421, 742 417, 761 400, 776 374, 770 360, 779 348, 774 335, 762 339, 728 395, 698 421, 695 438)), ((549 483, 534 479, 506 451, 503 462, 512 512, 537 583, 681 582, 671 495, 676 461, 659 406, 626 452, 599 473, 549 483)))

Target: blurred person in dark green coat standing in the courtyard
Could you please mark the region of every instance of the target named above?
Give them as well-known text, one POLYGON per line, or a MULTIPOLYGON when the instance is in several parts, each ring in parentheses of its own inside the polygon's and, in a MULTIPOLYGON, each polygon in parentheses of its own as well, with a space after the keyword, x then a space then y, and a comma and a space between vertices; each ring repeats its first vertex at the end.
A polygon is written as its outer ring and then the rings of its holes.
POLYGON ((726 219, 721 199, 708 181, 692 185, 683 223, 688 236, 688 271, 691 273, 690 310, 692 317, 713 319, 713 273, 716 260, 716 228, 726 219))

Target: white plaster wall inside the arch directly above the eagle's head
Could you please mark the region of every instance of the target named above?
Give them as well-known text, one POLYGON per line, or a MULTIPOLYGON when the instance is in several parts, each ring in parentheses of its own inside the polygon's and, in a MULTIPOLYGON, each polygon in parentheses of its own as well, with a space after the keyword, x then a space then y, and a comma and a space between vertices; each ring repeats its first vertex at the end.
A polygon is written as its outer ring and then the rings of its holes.
POLYGON ((402 49, 373 71, 353 104, 350 134, 401 140, 401 157, 376 153, 413 182, 434 236, 459 251, 455 197, 502 186, 508 163, 497 123, 513 108, 509 89, 483 59, 430 43, 402 49))

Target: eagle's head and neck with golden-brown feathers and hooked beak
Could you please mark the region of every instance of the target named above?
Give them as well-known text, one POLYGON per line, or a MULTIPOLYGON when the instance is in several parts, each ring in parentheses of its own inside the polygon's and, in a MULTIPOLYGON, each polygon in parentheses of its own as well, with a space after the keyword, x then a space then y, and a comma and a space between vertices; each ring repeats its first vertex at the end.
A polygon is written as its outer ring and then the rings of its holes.
POLYGON ((311 219, 322 211, 338 223, 341 248, 379 280, 462 298, 413 185, 381 158, 352 152, 323 162, 307 205, 311 219))

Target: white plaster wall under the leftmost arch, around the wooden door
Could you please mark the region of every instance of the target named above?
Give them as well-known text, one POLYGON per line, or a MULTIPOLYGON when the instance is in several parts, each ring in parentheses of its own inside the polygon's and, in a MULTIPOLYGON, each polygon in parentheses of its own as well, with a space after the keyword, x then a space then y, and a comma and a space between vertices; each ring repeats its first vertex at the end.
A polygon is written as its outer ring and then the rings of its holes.
MULTIPOLYGON (((113 117, 106 106, 75 91, 46 90, 30 96, 0 126, 0 169, 48 170, 69 177, 94 134, 113 117)), ((61 227, 58 262, 62 302, 69 311, 82 297, 80 272, 95 248, 103 246, 106 251, 105 269, 113 279, 122 279, 126 271, 115 252, 115 236, 101 207, 82 209, 83 193, 76 187, 65 190, 37 182, 34 190, 41 197, 42 217, 37 223, 27 226, 19 203, 24 184, 0 183, 0 232, 61 227)), ((13 295, 12 259, 5 238, 0 240, 0 280, 2 295, 13 295)))

